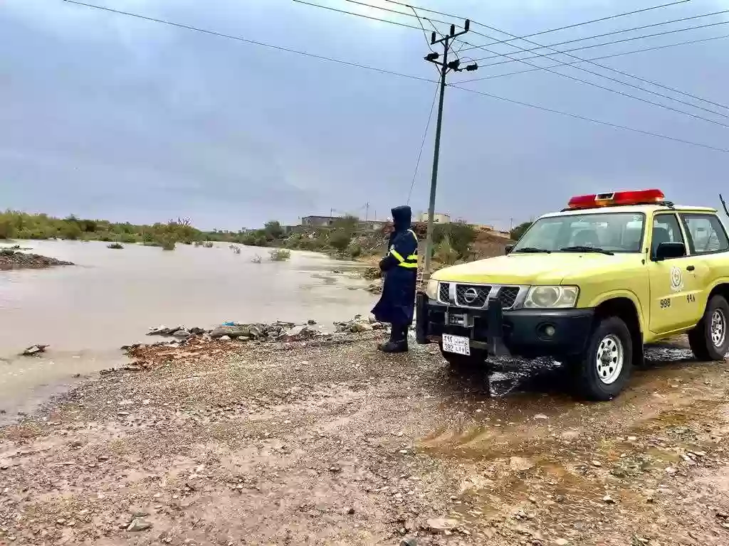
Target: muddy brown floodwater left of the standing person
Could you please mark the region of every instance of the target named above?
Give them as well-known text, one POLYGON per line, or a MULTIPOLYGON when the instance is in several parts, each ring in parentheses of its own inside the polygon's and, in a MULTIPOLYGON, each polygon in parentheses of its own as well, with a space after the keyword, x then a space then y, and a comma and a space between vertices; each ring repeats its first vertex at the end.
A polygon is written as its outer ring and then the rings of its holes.
POLYGON ((292 252, 289 261, 272 262, 266 248, 236 254, 222 243, 174 252, 107 244, 23 242, 77 265, 0 272, 0 411, 33 405, 76 374, 122 362, 119 347, 149 341, 152 325, 331 325, 368 312, 375 299, 359 289, 366 285, 355 278, 359 264, 321 254, 292 252), (257 255, 260 264, 252 261, 257 255), (50 347, 43 358, 17 357, 31 344, 50 347))

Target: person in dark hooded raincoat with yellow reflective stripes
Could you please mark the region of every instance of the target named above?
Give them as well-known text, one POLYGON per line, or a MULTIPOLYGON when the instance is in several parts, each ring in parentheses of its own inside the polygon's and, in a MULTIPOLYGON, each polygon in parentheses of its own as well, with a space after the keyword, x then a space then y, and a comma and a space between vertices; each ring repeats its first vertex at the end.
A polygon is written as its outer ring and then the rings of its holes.
POLYGON ((408 350, 408 327, 415 312, 418 280, 418 237, 410 229, 413 212, 403 205, 392 209, 394 231, 390 234, 388 252, 380 261, 384 282, 382 296, 372 310, 381 323, 391 323, 390 341, 381 344, 383 352, 408 350))

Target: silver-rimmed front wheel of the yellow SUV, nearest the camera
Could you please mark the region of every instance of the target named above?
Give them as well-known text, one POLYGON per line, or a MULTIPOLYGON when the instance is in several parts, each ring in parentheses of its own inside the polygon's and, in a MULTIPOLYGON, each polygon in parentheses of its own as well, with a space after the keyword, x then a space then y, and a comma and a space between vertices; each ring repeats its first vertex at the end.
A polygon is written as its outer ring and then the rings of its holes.
POLYGON ((586 400, 612 400, 633 368, 633 339, 620 317, 605 317, 593 328, 585 352, 568 364, 575 393, 586 400))

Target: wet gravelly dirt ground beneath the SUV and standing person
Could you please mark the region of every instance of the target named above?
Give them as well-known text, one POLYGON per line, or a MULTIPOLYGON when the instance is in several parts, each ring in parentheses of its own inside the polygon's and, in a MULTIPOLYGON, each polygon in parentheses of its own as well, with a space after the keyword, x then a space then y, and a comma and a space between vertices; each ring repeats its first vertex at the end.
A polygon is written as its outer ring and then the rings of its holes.
POLYGON ((374 339, 176 349, 0 429, 0 544, 729 544, 725 365, 651 349, 602 404, 506 366, 489 397, 374 339))

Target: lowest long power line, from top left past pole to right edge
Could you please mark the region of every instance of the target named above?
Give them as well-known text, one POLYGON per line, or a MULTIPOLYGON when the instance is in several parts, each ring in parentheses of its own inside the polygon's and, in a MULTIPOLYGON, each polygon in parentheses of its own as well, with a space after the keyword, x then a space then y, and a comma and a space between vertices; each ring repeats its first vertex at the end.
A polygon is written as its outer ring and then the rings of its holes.
MULTIPOLYGON (((161 24, 164 24, 164 25, 171 25, 171 26, 174 26, 174 27, 177 27, 177 28, 184 28, 184 29, 187 29, 187 30, 190 30, 190 31, 201 32, 201 33, 209 34, 209 35, 212 35, 212 36, 219 36, 221 38, 227 38, 227 39, 233 39, 233 40, 236 40, 236 41, 242 41, 242 42, 245 42, 247 44, 254 44, 254 45, 258 45, 258 46, 262 46, 262 47, 270 47, 271 49, 278 50, 278 51, 285 51, 285 52, 289 52, 289 53, 296 53, 298 55, 303 55, 303 56, 308 57, 308 58, 314 58, 314 59, 319 59, 319 60, 328 60, 328 61, 331 61, 331 62, 334 62, 334 63, 343 64, 343 65, 346 65, 346 66, 354 66, 356 68, 364 68, 366 70, 379 72, 381 74, 391 74, 393 76, 401 76, 401 77, 410 78, 410 79, 417 79, 417 80, 419 80, 421 82, 437 83, 437 82, 434 82, 431 79, 421 78, 419 76, 412 76, 410 74, 400 74, 399 72, 394 72, 394 71, 389 71, 389 70, 383 70, 381 68, 374 68, 372 66, 359 65, 357 63, 350 63, 350 62, 348 62, 346 60, 340 60, 340 59, 322 57, 321 55, 314 55, 314 54, 308 53, 308 52, 302 52, 302 51, 298 51, 298 50, 292 50, 292 49, 289 49, 289 48, 286 48, 286 47, 280 47, 280 46, 276 46, 276 45, 273 45, 273 44, 265 44, 265 43, 260 42, 260 41, 254 41, 254 40, 249 40, 249 39, 241 38, 241 36, 231 36, 231 35, 225 34, 225 33, 219 33, 219 32, 215 32, 215 31, 208 31, 208 30, 205 30, 203 28, 193 27, 191 25, 184 25, 182 23, 174 23, 172 21, 166 21, 166 20, 163 20, 163 19, 155 19, 154 17, 147 17, 145 15, 139 15, 139 14, 131 13, 131 12, 122 12, 122 11, 120 11, 118 9, 112 9, 112 8, 108 8, 108 7, 96 6, 94 4, 85 4, 85 3, 80 2, 80 1, 77 1, 77 0, 63 0, 63 1, 68 2, 69 4, 77 4, 79 6, 89 7, 89 8, 93 8, 93 9, 100 9, 100 10, 106 11, 106 12, 112 12, 112 13, 115 13, 117 15, 126 15, 128 17, 136 17, 138 19, 149 20, 149 21, 152 21, 154 23, 161 23, 161 24)), ((607 127, 613 127, 613 128, 616 128, 616 129, 623 129, 623 130, 627 130, 627 131, 631 131, 631 132, 638 132, 638 133, 643 134, 643 135, 649 135, 649 136, 653 136, 653 137, 656 137, 656 138, 663 138, 663 139, 668 140, 668 141, 674 141, 674 142, 678 142, 678 143, 683 143, 683 144, 687 144, 689 146, 698 146, 698 147, 704 148, 704 149, 710 149, 710 150, 714 150, 714 151, 721 151, 721 152, 724 152, 724 153, 729 153, 729 150, 727 150, 727 149, 718 148, 716 146, 711 146, 709 144, 703 144, 703 143, 696 143, 696 142, 692 142, 692 141, 686 141, 686 140, 684 140, 682 138, 674 138, 674 137, 670 137, 670 136, 667 136, 667 135, 661 135, 660 133, 655 133, 655 132, 650 132, 650 131, 644 131, 644 130, 641 130, 641 129, 636 129, 634 127, 628 127, 628 126, 625 126, 625 125, 619 125, 619 124, 615 124, 615 123, 611 123, 611 122, 604 122, 604 121, 601 121, 599 119, 592 119, 592 118, 588 118, 586 116, 580 116, 578 114, 572 114, 570 112, 559 111, 559 110, 555 110, 553 108, 546 108, 545 106, 538 106, 538 105, 534 105, 534 104, 530 104, 530 103, 524 103, 524 102, 522 102, 520 100, 514 100, 514 99, 510 99, 510 98, 499 97, 498 95, 492 95, 490 93, 483 92, 483 91, 477 91, 477 90, 467 89, 467 87, 460 87, 460 86, 456 86, 456 85, 451 85, 451 87, 456 87, 456 89, 460 89, 460 90, 466 91, 466 92, 476 93, 477 95, 483 95, 484 97, 495 98, 497 100, 502 100, 504 102, 518 104, 518 105, 521 105, 521 106, 527 106, 529 108, 535 108, 537 110, 542 110, 542 111, 550 112, 552 114, 560 114, 562 116, 572 117, 573 119, 582 119, 583 121, 593 122, 593 123, 596 123, 596 124, 601 124, 601 125, 604 125, 604 126, 607 126, 607 127)))

